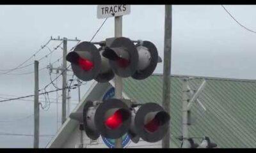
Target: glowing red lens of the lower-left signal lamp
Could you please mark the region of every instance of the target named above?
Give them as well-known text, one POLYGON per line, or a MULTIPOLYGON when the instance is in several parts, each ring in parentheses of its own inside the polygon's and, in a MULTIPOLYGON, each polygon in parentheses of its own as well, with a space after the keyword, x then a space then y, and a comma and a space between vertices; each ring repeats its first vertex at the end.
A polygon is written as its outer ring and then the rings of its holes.
POLYGON ((118 128, 123 122, 122 119, 122 113, 119 111, 116 111, 105 121, 105 125, 110 129, 116 129, 118 128))

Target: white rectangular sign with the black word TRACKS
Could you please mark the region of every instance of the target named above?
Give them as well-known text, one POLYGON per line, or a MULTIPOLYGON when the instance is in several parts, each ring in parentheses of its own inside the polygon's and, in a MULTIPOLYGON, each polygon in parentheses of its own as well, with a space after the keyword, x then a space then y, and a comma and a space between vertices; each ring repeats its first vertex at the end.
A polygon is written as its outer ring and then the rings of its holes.
POLYGON ((131 5, 98 5, 97 18, 118 17, 131 12, 131 5))

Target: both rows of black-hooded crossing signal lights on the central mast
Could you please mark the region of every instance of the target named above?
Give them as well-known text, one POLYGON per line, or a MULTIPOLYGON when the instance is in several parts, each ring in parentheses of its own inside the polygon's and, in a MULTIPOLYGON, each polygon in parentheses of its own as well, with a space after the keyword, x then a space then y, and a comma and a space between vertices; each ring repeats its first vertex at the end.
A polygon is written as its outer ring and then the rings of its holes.
MULTIPOLYGON (((66 59, 71 62, 77 78, 97 82, 108 82, 115 75, 143 80, 152 75, 157 62, 161 62, 152 42, 124 37, 107 38, 98 43, 83 41, 66 59)), ((134 143, 140 138, 147 142, 161 140, 167 132, 170 115, 156 103, 142 105, 138 112, 133 111, 133 106, 120 99, 108 99, 104 103, 87 101, 83 112, 71 113, 70 118, 83 123, 86 135, 93 140, 100 135, 116 139, 127 132, 134 143)))

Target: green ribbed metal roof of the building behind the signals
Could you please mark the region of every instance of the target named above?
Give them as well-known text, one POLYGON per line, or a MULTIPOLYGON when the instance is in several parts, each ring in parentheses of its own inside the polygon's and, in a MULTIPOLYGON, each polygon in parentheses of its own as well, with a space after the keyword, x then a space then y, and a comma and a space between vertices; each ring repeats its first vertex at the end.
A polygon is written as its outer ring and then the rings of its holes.
MULTIPOLYGON (((189 126, 189 136, 209 136, 220 148, 256 147, 256 83, 254 80, 195 77, 189 80, 197 89, 202 80, 206 85, 191 114, 195 122, 189 126)), ((162 103, 163 76, 152 75, 145 80, 124 79, 124 92, 140 103, 162 103)), ((171 141, 180 146, 182 135, 182 84, 179 76, 171 79, 171 141)), ((200 143, 200 140, 195 142, 200 143)))

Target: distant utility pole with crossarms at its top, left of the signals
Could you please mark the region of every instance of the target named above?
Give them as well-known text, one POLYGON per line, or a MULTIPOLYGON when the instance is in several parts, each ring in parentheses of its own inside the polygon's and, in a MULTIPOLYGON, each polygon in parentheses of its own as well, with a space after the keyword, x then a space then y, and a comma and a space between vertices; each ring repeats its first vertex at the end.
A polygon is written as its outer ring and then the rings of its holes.
POLYGON ((63 124, 67 117, 67 38, 63 38, 63 71, 62 71, 62 116, 61 124, 63 124))

